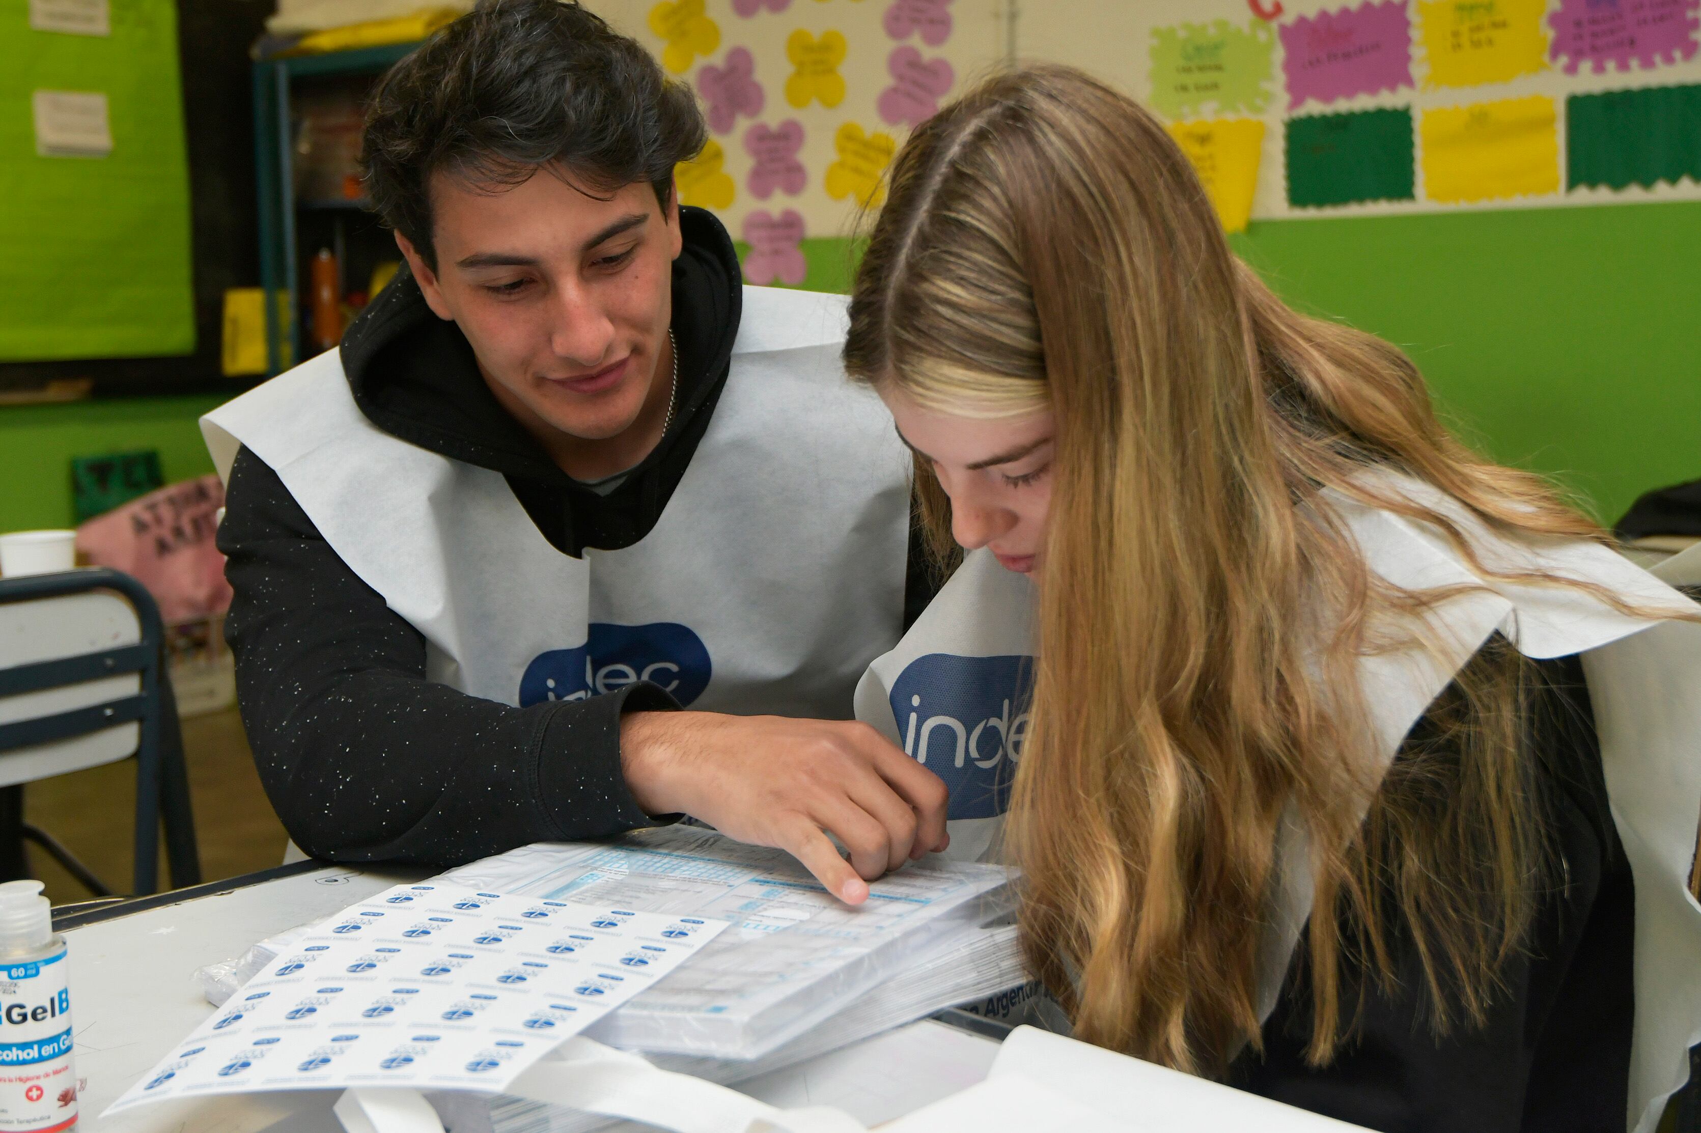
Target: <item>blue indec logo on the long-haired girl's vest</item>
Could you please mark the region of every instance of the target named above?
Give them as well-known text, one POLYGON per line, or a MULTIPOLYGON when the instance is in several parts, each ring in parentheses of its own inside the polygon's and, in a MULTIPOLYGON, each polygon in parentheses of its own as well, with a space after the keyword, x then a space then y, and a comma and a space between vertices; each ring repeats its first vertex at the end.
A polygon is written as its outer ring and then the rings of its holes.
POLYGON ((893 681, 903 753, 951 788, 946 817, 990 819, 1010 805, 1033 668, 1033 657, 930 652, 893 681))

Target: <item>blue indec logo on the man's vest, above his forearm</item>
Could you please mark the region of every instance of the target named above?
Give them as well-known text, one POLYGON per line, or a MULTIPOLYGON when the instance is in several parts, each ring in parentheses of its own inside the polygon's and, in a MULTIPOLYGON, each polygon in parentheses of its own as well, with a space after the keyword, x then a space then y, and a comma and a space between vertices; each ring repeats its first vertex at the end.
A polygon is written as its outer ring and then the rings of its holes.
POLYGON ((521 707, 546 700, 585 700, 650 681, 689 705, 709 686, 709 651, 677 622, 611 625, 592 622, 578 649, 538 654, 521 676, 521 707))

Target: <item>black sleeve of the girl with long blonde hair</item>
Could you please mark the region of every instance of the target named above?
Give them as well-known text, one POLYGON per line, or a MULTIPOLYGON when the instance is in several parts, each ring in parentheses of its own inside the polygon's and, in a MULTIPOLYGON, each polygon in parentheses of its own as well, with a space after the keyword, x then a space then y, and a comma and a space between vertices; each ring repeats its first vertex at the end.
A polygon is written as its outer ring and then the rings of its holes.
POLYGON ((1395 939, 1400 992, 1364 997, 1334 1062, 1305 1065, 1306 995, 1289 984, 1232 1084, 1385 1133, 1623 1133, 1635 1021, 1635 887, 1606 805, 1582 666, 1543 662, 1531 719, 1553 882, 1483 1028, 1436 1038, 1422 968, 1395 939))

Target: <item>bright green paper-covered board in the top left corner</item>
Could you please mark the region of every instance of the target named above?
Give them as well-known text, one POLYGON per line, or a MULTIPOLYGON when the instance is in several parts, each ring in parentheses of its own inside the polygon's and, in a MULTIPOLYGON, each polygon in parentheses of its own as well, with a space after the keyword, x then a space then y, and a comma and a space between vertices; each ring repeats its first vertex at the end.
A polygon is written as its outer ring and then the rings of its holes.
POLYGON ((0 362, 194 352, 174 0, 0 3, 0 362), (39 92, 104 97, 109 151, 41 153, 39 92))

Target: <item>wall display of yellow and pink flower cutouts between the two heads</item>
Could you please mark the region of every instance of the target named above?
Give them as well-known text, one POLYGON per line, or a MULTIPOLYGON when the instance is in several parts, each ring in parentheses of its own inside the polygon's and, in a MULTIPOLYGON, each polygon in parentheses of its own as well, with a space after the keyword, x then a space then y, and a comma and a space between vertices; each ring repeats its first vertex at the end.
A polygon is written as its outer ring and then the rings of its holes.
POLYGON ((709 144, 684 204, 752 284, 844 285, 844 241, 910 129, 1009 58, 1007 0, 589 0, 692 85, 709 144))

